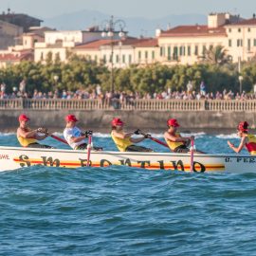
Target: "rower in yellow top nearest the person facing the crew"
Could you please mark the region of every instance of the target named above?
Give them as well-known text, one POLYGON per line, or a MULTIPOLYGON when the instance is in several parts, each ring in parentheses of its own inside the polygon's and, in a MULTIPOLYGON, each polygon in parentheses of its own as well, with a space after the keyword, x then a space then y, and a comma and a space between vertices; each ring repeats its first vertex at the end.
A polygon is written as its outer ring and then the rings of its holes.
POLYGON ((168 131, 164 133, 164 138, 169 148, 175 153, 188 153, 190 152, 189 146, 194 137, 181 137, 177 133, 179 124, 176 119, 169 119, 167 121, 168 131))

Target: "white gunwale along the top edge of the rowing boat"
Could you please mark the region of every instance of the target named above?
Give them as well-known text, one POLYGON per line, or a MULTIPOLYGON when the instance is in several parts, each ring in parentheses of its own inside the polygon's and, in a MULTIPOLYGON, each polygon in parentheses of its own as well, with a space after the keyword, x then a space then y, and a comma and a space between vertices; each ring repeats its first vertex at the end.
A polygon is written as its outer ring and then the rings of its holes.
MULTIPOLYGON (((69 149, 38 149, 38 148, 22 148, 22 147, 8 147, 0 146, 1 150, 11 150, 11 151, 23 151, 23 152, 46 152, 46 153, 69 153, 69 154, 85 154, 87 151, 80 150, 69 150, 69 149)), ((170 155, 170 156, 190 156, 190 154, 184 153, 164 153, 164 152, 117 152, 117 151, 92 151, 93 155, 170 155)), ((234 155, 234 154, 194 154, 194 157, 249 157, 255 158, 256 155, 234 155)))

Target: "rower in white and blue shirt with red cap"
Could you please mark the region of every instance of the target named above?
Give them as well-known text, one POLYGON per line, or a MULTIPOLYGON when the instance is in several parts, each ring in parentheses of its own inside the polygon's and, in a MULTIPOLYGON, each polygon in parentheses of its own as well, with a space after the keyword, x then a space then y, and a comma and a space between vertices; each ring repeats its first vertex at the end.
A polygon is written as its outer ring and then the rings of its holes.
MULTIPOLYGON (((76 126, 76 123, 79 120, 74 115, 67 115, 65 117, 65 129, 64 129, 64 138, 69 144, 69 146, 74 150, 85 150, 87 149, 87 143, 85 138, 92 135, 92 131, 82 131, 76 126)), ((93 147, 93 150, 100 151, 102 148, 93 147)))

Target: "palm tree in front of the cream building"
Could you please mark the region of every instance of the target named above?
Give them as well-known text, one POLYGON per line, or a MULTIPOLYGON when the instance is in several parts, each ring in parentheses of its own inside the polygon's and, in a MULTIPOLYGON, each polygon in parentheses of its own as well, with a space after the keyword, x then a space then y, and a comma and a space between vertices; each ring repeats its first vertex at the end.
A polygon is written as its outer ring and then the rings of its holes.
POLYGON ((203 52, 202 56, 198 57, 203 63, 207 64, 229 64, 231 56, 227 54, 227 49, 224 46, 210 46, 203 52))

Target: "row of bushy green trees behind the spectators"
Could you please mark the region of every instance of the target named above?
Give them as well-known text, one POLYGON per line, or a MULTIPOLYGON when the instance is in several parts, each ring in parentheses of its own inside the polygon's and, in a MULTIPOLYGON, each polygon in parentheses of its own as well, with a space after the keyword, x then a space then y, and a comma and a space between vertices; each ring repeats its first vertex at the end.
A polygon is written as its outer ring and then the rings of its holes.
MULTIPOLYGON (((172 91, 186 90, 192 81, 194 90, 199 90, 204 81, 208 92, 222 91, 224 88, 239 91, 239 75, 243 76, 243 90, 250 92, 256 83, 256 62, 242 64, 238 73, 237 64, 201 62, 192 65, 173 66, 150 64, 131 65, 115 68, 115 89, 140 93, 157 93, 171 88, 172 91)), ((68 63, 47 60, 46 64, 22 62, 0 69, 0 82, 5 82, 7 92, 25 80, 27 91, 37 89, 42 92, 58 90, 93 90, 97 84, 103 91, 111 90, 111 70, 103 64, 96 64, 84 57, 71 56, 68 63)))

